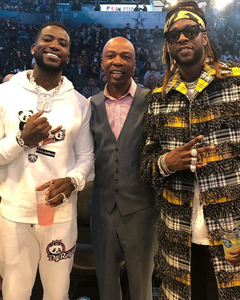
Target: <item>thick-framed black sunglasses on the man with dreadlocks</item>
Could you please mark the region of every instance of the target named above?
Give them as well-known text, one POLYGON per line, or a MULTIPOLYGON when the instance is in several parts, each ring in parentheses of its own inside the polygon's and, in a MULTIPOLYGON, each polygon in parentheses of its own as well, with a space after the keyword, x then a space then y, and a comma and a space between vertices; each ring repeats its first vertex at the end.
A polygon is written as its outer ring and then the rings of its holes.
POLYGON ((166 40, 169 42, 169 44, 174 44, 174 43, 177 43, 177 41, 179 40, 179 37, 181 36, 182 33, 189 40, 193 40, 196 37, 198 37, 200 31, 204 32, 205 30, 203 30, 203 28, 200 25, 196 24, 196 25, 188 26, 181 30, 167 31, 164 34, 164 38, 166 38, 166 40))

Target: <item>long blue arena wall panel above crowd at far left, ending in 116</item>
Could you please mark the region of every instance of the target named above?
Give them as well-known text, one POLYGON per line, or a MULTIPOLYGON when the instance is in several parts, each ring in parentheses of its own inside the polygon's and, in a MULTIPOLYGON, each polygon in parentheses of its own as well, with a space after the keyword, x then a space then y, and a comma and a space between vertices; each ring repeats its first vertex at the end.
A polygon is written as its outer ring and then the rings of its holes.
POLYGON ((10 19, 14 17, 17 21, 21 20, 22 24, 41 24, 42 21, 45 23, 52 21, 52 14, 28 14, 24 12, 16 12, 16 11, 0 11, 0 18, 5 17, 6 19, 10 19))

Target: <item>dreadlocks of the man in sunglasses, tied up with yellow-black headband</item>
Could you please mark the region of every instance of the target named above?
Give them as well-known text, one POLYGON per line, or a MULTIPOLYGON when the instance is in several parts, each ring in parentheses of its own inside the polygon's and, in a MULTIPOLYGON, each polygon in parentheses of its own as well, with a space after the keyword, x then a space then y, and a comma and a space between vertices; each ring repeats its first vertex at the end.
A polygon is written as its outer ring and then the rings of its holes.
MULTIPOLYGON (((185 11, 188 14, 188 18, 190 15, 190 19, 196 21, 197 23, 200 23, 200 21, 203 22, 202 25, 204 26, 204 28, 207 25, 205 13, 201 8, 198 7, 197 3, 195 1, 185 0, 185 1, 178 2, 177 4, 169 7, 166 15, 166 25, 165 25, 164 32, 168 31, 169 28, 174 23, 174 18, 172 18, 173 15, 180 11, 185 11)), ((215 49, 210 45, 208 38, 207 38, 207 45, 204 46, 204 50, 205 50, 205 58, 204 58, 203 65, 206 62, 206 60, 209 58, 209 60, 214 64, 216 70, 216 77, 219 79, 223 79, 223 76, 220 73, 220 69, 229 70, 229 68, 221 66, 218 63, 218 55, 215 49)), ((166 75, 162 87, 163 98, 165 95, 167 83, 169 82, 171 76, 170 62, 172 62, 172 68, 176 69, 175 61, 172 58, 170 59, 169 53, 170 53, 170 47, 168 41, 166 40, 163 46, 163 57, 162 57, 162 62, 163 63, 166 62, 167 65, 166 75)))

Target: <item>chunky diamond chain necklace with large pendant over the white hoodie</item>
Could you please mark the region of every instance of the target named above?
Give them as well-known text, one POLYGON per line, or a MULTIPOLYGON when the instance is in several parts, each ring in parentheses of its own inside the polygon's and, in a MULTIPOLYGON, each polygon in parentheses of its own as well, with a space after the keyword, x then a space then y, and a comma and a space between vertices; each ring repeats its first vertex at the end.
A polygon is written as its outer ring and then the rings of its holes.
POLYGON ((53 97, 59 92, 62 86, 62 80, 60 79, 58 85, 55 87, 55 90, 51 94, 41 92, 32 74, 30 75, 29 81, 31 82, 35 92, 37 93, 37 106, 36 106, 37 110, 40 111, 44 109, 45 112, 51 111, 53 97))

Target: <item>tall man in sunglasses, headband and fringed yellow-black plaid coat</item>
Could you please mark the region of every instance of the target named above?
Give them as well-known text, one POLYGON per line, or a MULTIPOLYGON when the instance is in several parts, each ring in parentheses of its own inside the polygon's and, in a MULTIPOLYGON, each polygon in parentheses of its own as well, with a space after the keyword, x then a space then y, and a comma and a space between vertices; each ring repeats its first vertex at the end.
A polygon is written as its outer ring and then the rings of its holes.
POLYGON ((140 163, 162 191, 160 300, 240 299, 240 247, 225 256, 219 226, 240 220, 240 66, 217 60, 206 24, 194 1, 169 8, 167 72, 147 96, 140 163))

